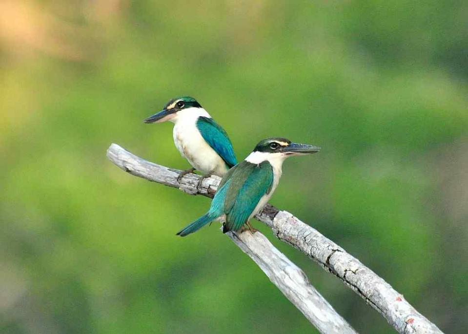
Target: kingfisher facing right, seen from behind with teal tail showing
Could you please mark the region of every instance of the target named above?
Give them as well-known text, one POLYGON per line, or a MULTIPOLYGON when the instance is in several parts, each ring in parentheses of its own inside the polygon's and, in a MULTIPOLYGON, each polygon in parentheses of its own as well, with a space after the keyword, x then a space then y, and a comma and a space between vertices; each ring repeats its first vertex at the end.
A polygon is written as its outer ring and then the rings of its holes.
POLYGON ((220 217, 224 220, 223 233, 241 230, 244 224, 255 231, 249 220, 263 209, 278 186, 285 159, 318 151, 319 146, 291 143, 281 137, 262 140, 224 175, 208 212, 177 235, 186 236, 220 217))

